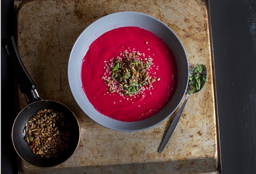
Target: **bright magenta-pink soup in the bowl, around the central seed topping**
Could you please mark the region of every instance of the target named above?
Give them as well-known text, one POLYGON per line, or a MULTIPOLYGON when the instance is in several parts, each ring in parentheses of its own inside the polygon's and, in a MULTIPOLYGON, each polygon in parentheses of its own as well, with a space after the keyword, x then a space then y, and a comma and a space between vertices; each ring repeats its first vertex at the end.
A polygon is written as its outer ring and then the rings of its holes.
MULTIPOLYGON (((129 78, 132 77, 127 77, 128 81, 129 78)), ((92 42, 83 58, 81 82, 88 100, 101 114, 119 121, 140 121, 158 112, 173 96, 177 64, 170 48, 152 32, 133 26, 120 27, 92 42), (135 86, 137 91, 132 95, 124 94, 123 88, 119 88, 121 82, 112 77, 114 61, 121 62, 129 53, 136 64, 143 61, 148 65, 150 83, 145 82, 141 88, 135 86)))

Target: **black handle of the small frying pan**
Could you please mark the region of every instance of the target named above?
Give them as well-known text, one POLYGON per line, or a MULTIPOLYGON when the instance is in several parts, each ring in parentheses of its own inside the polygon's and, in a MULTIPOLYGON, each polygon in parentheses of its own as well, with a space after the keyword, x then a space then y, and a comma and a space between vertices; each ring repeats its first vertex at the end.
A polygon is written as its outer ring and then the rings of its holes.
POLYGON ((27 70, 20 59, 14 37, 4 37, 2 39, 2 46, 11 59, 20 86, 20 92, 25 95, 27 103, 30 104, 34 101, 42 100, 36 91, 36 85, 27 73, 27 70))

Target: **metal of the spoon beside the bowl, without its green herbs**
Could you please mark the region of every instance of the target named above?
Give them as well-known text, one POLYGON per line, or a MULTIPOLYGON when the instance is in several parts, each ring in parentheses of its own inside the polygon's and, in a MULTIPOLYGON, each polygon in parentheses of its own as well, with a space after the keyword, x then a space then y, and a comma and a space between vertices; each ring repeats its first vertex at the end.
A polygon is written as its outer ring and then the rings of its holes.
MULTIPOLYGON (((204 67, 205 70, 203 70, 201 72, 201 74, 205 74, 207 76, 207 68, 204 66, 204 65, 200 65, 202 67, 204 67)), ((195 70, 195 67, 192 68, 190 71, 189 71, 189 74, 190 76, 193 75, 193 71, 195 70)), ((204 86, 205 82, 203 81, 203 83, 201 84, 201 87, 199 90, 191 90, 191 88, 189 87, 189 84, 188 84, 188 87, 187 87, 187 90, 186 90, 186 99, 184 100, 184 103, 182 104, 182 106, 180 107, 180 110, 177 112, 177 114, 175 115, 172 123, 171 123, 171 126, 168 128, 168 131, 166 132, 165 134, 165 137, 159 147, 159 150, 158 152, 159 153, 162 153, 166 144, 168 143, 169 139, 171 138, 172 134, 173 134, 173 131, 175 130, 179 120, 180 120, 180 117, 184 111, 184 108, 189 100, 189 97, 192 95, 192 94, 195 94, 197 93, 198 91, 200 91, 202 89, 202 87, 204 86)))

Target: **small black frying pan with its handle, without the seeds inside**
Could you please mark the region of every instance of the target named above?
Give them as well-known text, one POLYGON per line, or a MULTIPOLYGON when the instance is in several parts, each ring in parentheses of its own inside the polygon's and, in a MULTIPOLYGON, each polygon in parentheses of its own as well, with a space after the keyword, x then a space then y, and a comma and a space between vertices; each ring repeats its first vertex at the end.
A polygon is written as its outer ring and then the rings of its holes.
MULTIPOLYGON (((53 167, 59 165, 66 161, 74 152, 76 151, 79 141, 80 141, 80 126, 79 122, 74 115, 74 113, 67 108, 67 106, 51 100, 41 99, 36 91, 36 86, 32 81, 31 77, 27 73, 18 51, 16 48, 15 40, 13 36, 4 37, 2 39, 2 46, 6 51, 7 55, 12 61, 13 68, 18 79, 20 86, 20 92, 25 95, 27 100, 27 106, 20 111, 16 117, 13 128, 12 128, 12 142, 13 146, 20 156, 21 159, 29 163, 30 165, 36 167, 53 167), (25 141, 25 133, 23 129, 25 123, 36 114, 39 110, 52 109, 58 112, 62 112, 67 118, 68 123, 71 123, 68 131, 70 131, 70 144, 64 152, 62 152, 58 157, 54 158, 43 158, 40 155, 34 154, 31 149, 28 147, 27 142, 25 141)), ((64 130, 67 131, 67 130, 64 130)))

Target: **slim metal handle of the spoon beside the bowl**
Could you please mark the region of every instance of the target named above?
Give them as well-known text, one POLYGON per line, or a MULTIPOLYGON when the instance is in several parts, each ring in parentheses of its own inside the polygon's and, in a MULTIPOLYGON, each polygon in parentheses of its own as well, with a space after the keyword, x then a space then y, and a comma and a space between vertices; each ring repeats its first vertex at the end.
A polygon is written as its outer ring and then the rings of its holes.
POLYGON ((177 114, 175 115, 175 117, 174 117, 170 127, 168 128, 168 130, 167 130, 167 132, 165 134, 165 137, 164 137, 164 139, 163 139, 163 141, 162 141, 162 143, 161 143, 161 145, 159 147, 159 150, 158 150, 159 153, 163 152, 166 144, 168 143, 169 139, 171 138, 171 136, 172 136, 172 134, 173 134, 173 132, 174 132, 174 130, 175 130, 179 120, 180 120, 180 117, 181 117, 181 115, 182 115, 182 113, 184 111, 184 108, 185 108, 185 106, 186 106, 186 104, 187 104, 187 102, 189 100, 190 95, 191 95, 190 93, 186 93, 186 99, 184 100, 182 106, 180 107, 180 110, 177 112, 177 114))

